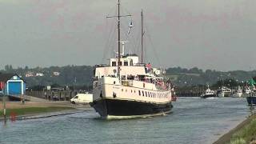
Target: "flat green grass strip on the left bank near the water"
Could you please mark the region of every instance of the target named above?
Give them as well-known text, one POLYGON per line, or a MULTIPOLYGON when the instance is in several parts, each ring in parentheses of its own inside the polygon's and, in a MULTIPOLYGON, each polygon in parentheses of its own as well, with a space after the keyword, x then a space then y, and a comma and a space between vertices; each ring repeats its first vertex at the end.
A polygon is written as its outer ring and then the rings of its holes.
MULTIPOLYGON (((10 117, 10 114, 15 115, 25 115, 25 114, 41 114, 41 113, 49 113, 60 110, 72 110, 72 107, 26 107, 20 109, 7 109, 6 116, 10 117)), ((3 117, 3 110, 0 111, 0 118, 3 117)))

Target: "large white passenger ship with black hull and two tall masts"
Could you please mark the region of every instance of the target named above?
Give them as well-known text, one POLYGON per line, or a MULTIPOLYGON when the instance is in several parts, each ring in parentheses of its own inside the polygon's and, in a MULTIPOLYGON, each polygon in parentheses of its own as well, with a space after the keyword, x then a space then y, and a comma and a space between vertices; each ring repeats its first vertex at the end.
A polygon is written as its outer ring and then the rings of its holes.
MULTIPOLYGON (((143 59, 140 62, 137 54, 125 54, 125 42, 120 41, 122 16, 119 14, 119 6, 118 0, 118 54, 110 58, 108 66, 95 67, 94 96, 90 106, 107 119, 168 114, 173 107, 170 81, 163 77, 164 70, 151 68, 150 63, 143 64, 143 59)), ((142 38, 143 33, 142 30, 142 38)))

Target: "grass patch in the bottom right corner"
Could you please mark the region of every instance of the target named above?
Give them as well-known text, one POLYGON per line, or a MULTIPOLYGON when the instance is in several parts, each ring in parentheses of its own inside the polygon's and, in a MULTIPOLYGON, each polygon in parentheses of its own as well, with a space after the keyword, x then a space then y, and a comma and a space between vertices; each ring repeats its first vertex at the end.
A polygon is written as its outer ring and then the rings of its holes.
POLYGON ((238 130, 233 134, 230 144, 250 143, 253 138, 256 138, 256 118, 251 120, 250 123, 244 126, 241 130, 238 130))

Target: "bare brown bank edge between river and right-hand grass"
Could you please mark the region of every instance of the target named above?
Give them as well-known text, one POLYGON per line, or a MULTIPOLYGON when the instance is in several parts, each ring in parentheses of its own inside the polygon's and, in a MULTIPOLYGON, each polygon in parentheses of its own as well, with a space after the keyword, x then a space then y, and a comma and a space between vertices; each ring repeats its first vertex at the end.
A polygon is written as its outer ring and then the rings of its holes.
POLYGON ((246 120, 240 122, 237 126, 235 126, 232 130, 227 132, 226 134, 223 134, 220 138, 218 138, 217 141, 215 141, 213 144, 223 144, 223 143, 230 143, 230 140, 233 136, 233 134, 237 133, 239 130, 242 130, 245 126, 250 124, 252 120, 256 118, 256 114, 250 114, 246 120))

